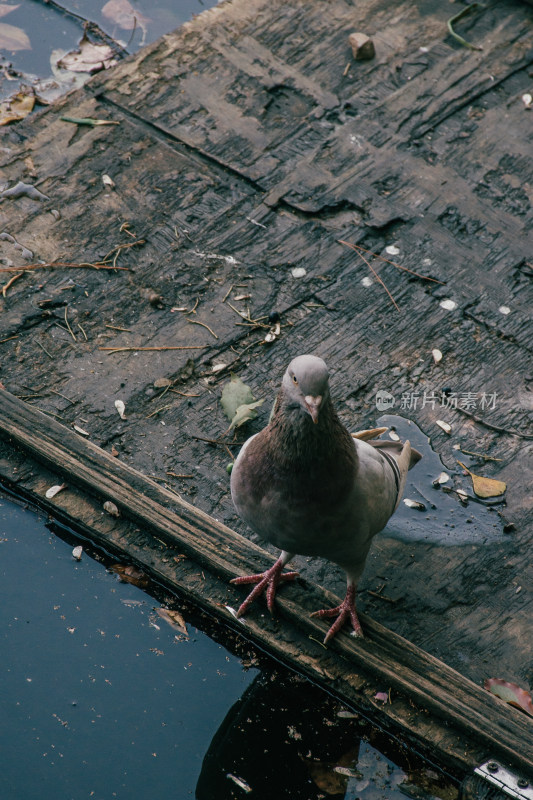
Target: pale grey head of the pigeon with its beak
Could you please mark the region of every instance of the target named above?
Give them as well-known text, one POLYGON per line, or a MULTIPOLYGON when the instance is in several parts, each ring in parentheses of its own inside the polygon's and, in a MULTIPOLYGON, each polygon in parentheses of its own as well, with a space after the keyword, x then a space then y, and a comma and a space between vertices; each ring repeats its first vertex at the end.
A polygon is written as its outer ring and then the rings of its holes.
POLYGON ((328 368, 318 356, 293 358, 282 383, 288 405, 299 406, 318 422, 320 409, 329 397, 328 378, 328 368))

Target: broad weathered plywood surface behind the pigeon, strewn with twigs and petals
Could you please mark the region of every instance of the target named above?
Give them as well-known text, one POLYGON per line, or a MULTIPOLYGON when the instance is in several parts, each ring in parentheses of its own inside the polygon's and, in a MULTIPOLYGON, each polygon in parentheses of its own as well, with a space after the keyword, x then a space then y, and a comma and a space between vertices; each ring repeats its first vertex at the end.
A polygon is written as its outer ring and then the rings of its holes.
MULTIPOLYGON (((49 198, 0 203, 0 230, 34 261, 98 261, 134 241, 124 222, 145 244, 120 254, 129 272, 19 278, 0 298, 2 380, 247 535, 229 498, 229 457, 192 438, 218 438, 227 426, 218 397, 229 370, 213 374, 214 364, 233 365, 256 396, 273 397, 290 358, 316 352, 352 430, 374 424, 378 389, 496 393, 495 410, 472 412, 481 422, 421 403, 401 413, 451 469, 457 443, 501 459, 477 471, 507 481, 515 530, 483 546, 378 537, 359 602, 476 683, 531 685, 533 161, 521 96, 531 89, 533 9, 500 0, 465 18, 461 32, 483 47, 473 52, 446 34, 456 8, 234 0, 6 131, 3 180, 34 183, 49 198), (373 35, 374 61, 351 62, 356 29, 373 35), (78 129, 60 121, 65 113, 121 124, 78 129), (393 244, 394 260, 446 285, 374 262, 396 311, 379 283, 362 284, 368 267, 339 239, 378 253, 393 244), (306 276, 293 278, 294 267, 306 276), (444 297, 455 311, 439 305, 444 297), (278 310, 280 338, 263 346, 265 330, 243 325, 229 303, 254 319, 278 310), (171 310, 182 307, 194 313, 171 310), (205 350, 99 350, 110 345, 205 350), (160 396, 161 377, 182 394, 160 396), (396 603, 366 593, 384 583, 396 603)), ((0 250, 27 263, 9 241, 0 250)), ((342 592, 335 567, 296 564, 342 592)))

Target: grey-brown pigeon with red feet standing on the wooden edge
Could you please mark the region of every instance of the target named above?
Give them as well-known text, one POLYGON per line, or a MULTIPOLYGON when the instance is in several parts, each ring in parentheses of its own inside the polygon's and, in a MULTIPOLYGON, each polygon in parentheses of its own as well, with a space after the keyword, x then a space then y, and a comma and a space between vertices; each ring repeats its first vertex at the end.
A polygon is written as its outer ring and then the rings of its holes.
POLYGON ((244 443, 231 473, 238 514, 281 550, 270 569, 231 581, 256 584, 237 617, 265 591, 272 613, 278 585, 298 577, 283 573, 285 565, 295 554, 318 556, 347 578, 340 605, 311 615, 334 619, 324 642, 347 622, 353 636, 363 635, 355 595, 372 538, 396 510, 407 471, 421 458, 408 441, 376 438, 385 430, 350 434, 333 407, 325 362, 315 355, 291 361, 268 425, 244 443))

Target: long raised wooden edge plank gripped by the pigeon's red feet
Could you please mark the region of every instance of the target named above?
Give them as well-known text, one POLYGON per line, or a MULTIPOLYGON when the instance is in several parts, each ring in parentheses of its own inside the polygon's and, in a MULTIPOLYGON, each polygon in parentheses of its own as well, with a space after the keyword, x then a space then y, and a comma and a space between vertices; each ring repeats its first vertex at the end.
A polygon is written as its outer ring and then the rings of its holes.
MULTIPOLYGON (((215 585, 210 590, 215 593, 210 607, 225 621, 233 622, 226 609, 227 594, 231 592, 235 603, 239 593, 233 588, 228 589, 227 580, 239 572, 257 570, 269 563, 270 557, 261 548, 5 390, 0 391, 0 437, 4 443, 7 441, 23 448, 37 462, 100 498, 100 501, 113 500, 126 519, 142 525, 140 530, 135 530, 137 537, 142 530, 148 529, 157 539, 183 551, 191 562, 209 571, 210 580, 215 585)), ((23 467, 24 471, 28 471, 27 465, 23 467)), ((50 503, 49 507, 55 505, 55 502, 50 503)), ((119 538, 119 543, 126 553, 137 559, 140 556, 143 563, 148 561, 152 572, 157 573, 154 553, 150 549, 141 555, 138 546, 132 548, 128 537, 124 540, 119 538)), ((205 586, 202 590, 202 581, 198 577, 195 584, 195 600, 198 601, 200 594, 206 593, 206 597, 210 594, 205 586)), ((205 604, 206 597, 202 604, 205 604)), ((287 587, 287 591, 280 593, 278 602, 284 622, 278 627, 276 636, 279 628, 288 627, 287 638, 298 640, 302 648, 300 657, 295 658, 294 646, 290 651, 284 651, 284 657, 289 661, 294 659, 294 664, 299 667, 306 663, 308 674, 322 679, 322 658, 317 658, 316 647, 308 652, 308 642, 309 637, 320 641, 325 627, 320 621, 310 618, 308 613, 310 606, 332 602, 336 602, 336 598, 318 586, 307 586, 305 591, 299 587, 287 587)), ((276 636, 271 636, 268 626, 263 628, 262 624, 257 624, 257 616, 256 609, 250 614, 246 631, 266 649, 279 655, 280 645, 274 642, 276 636)), ((362 622, 366 633, 363 641, 355 642, 343 634, 328 649, 330 664, 339 659, 337 669, 331 675, 338 677, 350 664, 356 672, 372 675, 374 679, 377 676, 413 701, 419 709, 436 715, 446 726, 464 735, 467 742, 473 742, 472 749, 467 748, 464 756, 465 764, 472 765, 473 755, 479 757, 480 750, 484 749, 487 755, 499 754, 522 769, 533 767, 533 720, 501 703, 366 615, 362 622)), ((412 725, 406 727, 411 729, 412 725)), ((444 755, 457 766, 457 747, 453 752, 449 740, 443 740, 441 746, 444 755)))

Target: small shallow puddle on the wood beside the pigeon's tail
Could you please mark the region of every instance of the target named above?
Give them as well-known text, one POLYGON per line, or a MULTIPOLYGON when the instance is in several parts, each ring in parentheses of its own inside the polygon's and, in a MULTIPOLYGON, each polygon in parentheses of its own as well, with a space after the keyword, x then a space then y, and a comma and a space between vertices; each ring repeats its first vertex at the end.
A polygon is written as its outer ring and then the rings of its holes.
MULTIPOLYGON (((408 473, 403 498, 421 503, 424 508, 410 508, 402 500, 383 535, 438 545, 480 544, 505 537, 503 522, 498 514, 502 503, 490 500, 485 504, 476 499, 470 478, 463 476, 458 464, 456 469, 448 469, 443 464, 429 438, 415 422, 396 414, 384 414, 376 425, 394 429, 402 441, 409 439, 423 456, 408 473), (446 472, 450 480, 435 488, 433 482, 441 472, 446 472), (449 489, 466 492, 468 504, 463 505, 457 494, 449 489)), ((387 436, 385 434, 383 438, 387 436)), ((459 450, 457 458, 469 466, 469 457, 459 450)))

